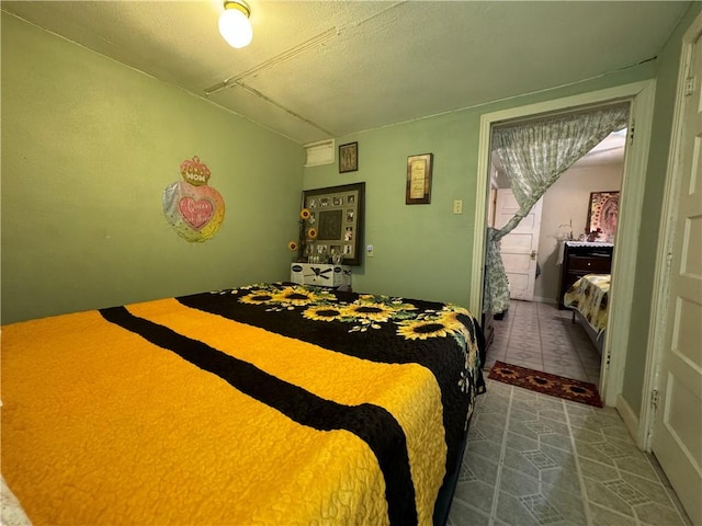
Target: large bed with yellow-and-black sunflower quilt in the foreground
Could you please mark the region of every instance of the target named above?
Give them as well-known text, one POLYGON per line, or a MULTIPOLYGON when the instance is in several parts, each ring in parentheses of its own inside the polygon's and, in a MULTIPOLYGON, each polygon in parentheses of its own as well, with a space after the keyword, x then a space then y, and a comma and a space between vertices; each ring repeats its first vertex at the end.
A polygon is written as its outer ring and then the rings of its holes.
POLYGON ((2 328, 35 524, 437 524, 484 341, 453 305, 292 283, 2 328))

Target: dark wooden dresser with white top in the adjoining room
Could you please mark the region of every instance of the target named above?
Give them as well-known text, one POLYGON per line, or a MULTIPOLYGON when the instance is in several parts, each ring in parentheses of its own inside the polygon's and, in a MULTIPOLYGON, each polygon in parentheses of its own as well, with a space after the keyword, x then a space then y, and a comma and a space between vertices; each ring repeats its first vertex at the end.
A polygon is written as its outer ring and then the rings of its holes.
POLYGON ((561 286, 558 287, 558 308, 565 309, 563 296, 568 287, 586 274, 609 274, 612 272, 612 243, 589 243, 565 241, 561 263, 561 286))

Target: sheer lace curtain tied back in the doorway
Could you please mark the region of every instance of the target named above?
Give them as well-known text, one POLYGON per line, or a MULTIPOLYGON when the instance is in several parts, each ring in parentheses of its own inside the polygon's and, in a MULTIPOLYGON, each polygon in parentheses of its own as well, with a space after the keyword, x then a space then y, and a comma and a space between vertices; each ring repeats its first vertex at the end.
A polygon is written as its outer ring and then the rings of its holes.
POLYGON ((563 172, 627 122, 629 103, 621 103, 492 130, 492 151, 502 164, 519 211, 501 229, 488 228, 483 312, 503 312, 509 307, 500 240, 519 225, 563 172))

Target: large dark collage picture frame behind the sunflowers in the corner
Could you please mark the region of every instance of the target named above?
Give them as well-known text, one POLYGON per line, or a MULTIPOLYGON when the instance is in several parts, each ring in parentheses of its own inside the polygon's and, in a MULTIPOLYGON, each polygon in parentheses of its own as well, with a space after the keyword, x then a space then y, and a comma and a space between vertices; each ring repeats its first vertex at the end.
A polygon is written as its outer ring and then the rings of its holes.
POLYGON ((361 265, 365 183, 303 191, 307 219, 301 228, 301 258, 331 261, 341 255, 343 265, 361 265))

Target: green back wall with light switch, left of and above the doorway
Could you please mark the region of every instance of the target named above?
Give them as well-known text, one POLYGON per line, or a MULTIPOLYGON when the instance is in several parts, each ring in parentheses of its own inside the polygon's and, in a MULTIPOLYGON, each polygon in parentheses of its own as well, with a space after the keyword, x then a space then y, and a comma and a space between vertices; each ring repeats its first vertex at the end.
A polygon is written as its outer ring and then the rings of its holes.
POLYGON ((375 255, 353 273, 353 288, 468 305, 475 230, 480 116, 509 107, 650 79, 647 62, 539 94, 466 108, 337 139, 359 142, 359 171, 336 164, 305 169, 305 188, 366 183, 365 244, 375 255), (407 156, 433 153, 431 204, 406 205, 407 156), (453 201, 463 201, 454 215, 453 201))

